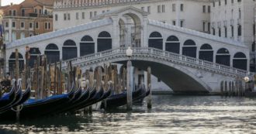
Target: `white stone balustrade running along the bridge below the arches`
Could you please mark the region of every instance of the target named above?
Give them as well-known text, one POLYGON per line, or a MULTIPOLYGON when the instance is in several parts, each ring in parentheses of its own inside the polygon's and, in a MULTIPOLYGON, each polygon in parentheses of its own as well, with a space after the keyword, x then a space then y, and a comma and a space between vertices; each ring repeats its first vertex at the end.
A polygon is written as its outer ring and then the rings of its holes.
MULTIPOLYGON (((78 57, 71 60, 65 60, 62 62, 62 67, 67 68, 67 64, 71 62, 74 66, 80 66, 81 64, 85 64, 88 62, 94 63, 94 60, 105 59, 109 60, 108 57, 119 56, 126 57, 126 48, 117 48, 114 50, 106 50, 100 53, 95 53, 91 55, 87 55, 84 57, 78 57)), ((209 62, 206 60, 199 60, 193 57, 186 57, 181 54, 171 53, 163 50, 157 50, 155 48, 133 48, 133 57, 154 57, 156 59, 168 60, 169 62, 175 64, 182 64, 183 66, 189 67, 197 67, 210 71, 214 71, 216 73, 221 74, 233 74, 237 77, 251 76, 250 72, 247 70, 240 70, 234 67, 228 67, 222 64, 215 64, 213 62, 209 62)), ((160 61, 161 62, 161 61, 160 61)), ((87 64, 88 65, 88 64, 87 64)))

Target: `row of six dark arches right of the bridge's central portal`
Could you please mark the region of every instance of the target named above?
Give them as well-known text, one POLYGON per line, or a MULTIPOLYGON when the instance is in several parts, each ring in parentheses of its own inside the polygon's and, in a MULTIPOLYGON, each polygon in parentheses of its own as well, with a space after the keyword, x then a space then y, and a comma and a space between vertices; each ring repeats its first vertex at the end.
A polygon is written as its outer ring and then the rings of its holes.
MULTIPOLYGON (((161 33, 150 33, 148 46, 163 50, 163 38, 161 33)), ((177 36, 168 36, 165 43, 165 50, 171 53, 180 53, 180 41, 177 36)), ((197 46, 193 40, 185 40, 182 46, 182 55, 196 58, 197 46)), ((199 50, 199 59, 213 62, 213 47, 208 43, 202 44, 199 50)), ((230 52, 226 48, 220 48, 216 52, 216 64, 230 66, 230 52)), ((238 52, 233 57, 233 67, 247 70, 247 57, 244 53, 238 52)))

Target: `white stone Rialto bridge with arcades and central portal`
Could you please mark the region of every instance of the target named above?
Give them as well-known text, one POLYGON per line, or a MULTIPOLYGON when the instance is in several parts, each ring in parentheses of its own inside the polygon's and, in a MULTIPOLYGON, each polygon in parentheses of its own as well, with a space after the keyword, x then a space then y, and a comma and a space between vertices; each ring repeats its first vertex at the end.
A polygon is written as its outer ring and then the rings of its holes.
POLYGON ((133 47, 133 67, 161 78, 173 91, 220 91, 220 81, 249 76, 249 49, 242 43, 147 19, 133 7, 96 16, 92 22, 6 45, 6 68, 12 70, 15 49, 23 67, 26 46, 29 65, 37 55, 51 63, 71 60, 73 66, 125 64, 126 47, 133 47))

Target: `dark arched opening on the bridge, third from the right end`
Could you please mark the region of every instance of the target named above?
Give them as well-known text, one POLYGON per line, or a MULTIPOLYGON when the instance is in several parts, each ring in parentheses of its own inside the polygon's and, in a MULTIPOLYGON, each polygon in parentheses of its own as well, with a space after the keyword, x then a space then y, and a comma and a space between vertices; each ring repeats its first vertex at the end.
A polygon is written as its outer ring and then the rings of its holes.
POLYGON ((200 47, 199 59, 213 62, 213 47, 205 43, 200 47))

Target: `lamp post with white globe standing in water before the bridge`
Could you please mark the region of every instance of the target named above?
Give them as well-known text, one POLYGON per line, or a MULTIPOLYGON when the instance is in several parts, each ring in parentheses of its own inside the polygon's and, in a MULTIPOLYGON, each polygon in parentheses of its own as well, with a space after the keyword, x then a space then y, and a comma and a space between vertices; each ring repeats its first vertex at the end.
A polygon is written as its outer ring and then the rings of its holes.
POLYGON ((128 47, 126 50, 126 55, 128 57, 127 62, 127 110, 130 111, 133 108, 133 69, 132 69, 132 62, 130 57, 133 55, 133 50, 128 47))

